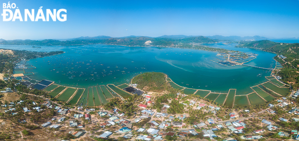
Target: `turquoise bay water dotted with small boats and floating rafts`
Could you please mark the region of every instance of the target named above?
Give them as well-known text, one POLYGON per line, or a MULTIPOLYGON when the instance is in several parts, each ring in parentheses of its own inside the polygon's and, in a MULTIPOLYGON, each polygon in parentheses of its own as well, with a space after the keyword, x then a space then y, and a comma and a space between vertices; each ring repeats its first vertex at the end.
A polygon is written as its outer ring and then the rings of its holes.
MULTIPOLYGON (((257 58, 247 62, 264 68, 274 68, 275 54, 248 48, 235 48, 236 44, 204 44, 211 47, 252 52, 257 58)), ((32 79, 48 79, 56 84, 87 88, 88 86, 128 83, 140 72, 163 72, 175 83, 194 89, 227 93, 237 89, 236 94, 252 92, 250 86, 266 81, 269 71, 245 66, 227 67, 210 61, 218 58, 216 53, 194 49, 159 47, 124 47, 115 45, 41 46, 0 45, 0 48, 64 51, 65 53, 28 61, 36 69, 32 79), (101 65, 102 64, 102 65, 101 65), (259 76, 257 76, 260 74, 259 76), (81 76, 80 76, 81 75, 81 76), (87 79, 87 80, 86 80, 87 79), (60 81, 60 83, 59 83, 60 81), (186 85, 189 84, 189 85, 186 85)))

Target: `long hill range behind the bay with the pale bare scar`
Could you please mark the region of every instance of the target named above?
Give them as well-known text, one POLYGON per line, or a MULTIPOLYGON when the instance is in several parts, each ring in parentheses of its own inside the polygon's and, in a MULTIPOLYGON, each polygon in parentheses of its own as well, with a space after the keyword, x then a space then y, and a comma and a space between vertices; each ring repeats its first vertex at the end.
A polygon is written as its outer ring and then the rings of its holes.
POLYGON ((26 44, 26 45, 80 45, 80 44, 114 44, 125 46, 172 46, 178 43, 214 43, 217 42, 207 37, 187 37, 183 39, 171 39, 160 37, 128 36, 113 38, 109 36, 96 37, 78 37, 68 39, 67 41, 59 40, 3 40, 1 44, 26 44))

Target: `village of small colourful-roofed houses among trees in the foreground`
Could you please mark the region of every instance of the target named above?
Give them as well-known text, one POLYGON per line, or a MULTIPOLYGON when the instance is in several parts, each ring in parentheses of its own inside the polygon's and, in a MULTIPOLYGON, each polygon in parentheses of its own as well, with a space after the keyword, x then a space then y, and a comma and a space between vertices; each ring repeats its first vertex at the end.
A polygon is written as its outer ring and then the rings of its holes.
MULTIPOLYGON (((11 91, 9 88, 6 90, 11 91)), ((1 105, 1 111, 12 116, 24 113, 30 115, 32 112, 55 111, 55 114, 49 117, 49 120, 40 124, 35 124, 28 118, 18 119, 18 122, 20 124, 33 124, 55 133, 64 131, 63 134, 70 135, 69 138, 65 139, 70 140, 81 140, 85 137, 148 141, 185 139, 266 140, 265 133, 277 134, 282 139, 299 140, 296 128, 286 130, 280 124, 280 122, 290 124, 299 121, 299 108, 295 106, 299 91, 287 98, 282 97, 275 100, 275 103, 268 104, 267 108, 262 111, 254 113, 246 109, 238 111, 232 109, 225 113, 223 117, 219 117, 220 114, 218 114, 220 111, 223 112, 222 106, 219 107, 203 99, 191 99, 188 98, 188 95, 181 93, 177 93, 177 97, 172 100, 177 100, 183 105, 183 114, 169 114, 167 110, 170 106, 166 103, 158 112, 156 109, 151 109, 157 94, 142 94, 143 100, 139 104, 135 104, 138 110, 131 117, 125 116, 117 108, 112 110, 105 110, 103 107, 81 106, 67 108, 49 99, 44 99, 43 102, 39 100, 39 103, 32 100, 7 101, 1 105), (20 109, 21 112, 18 112, 20 109), (275 111, 276 109, 280 111, 275 111), (190 120, 186 121, 190 118, 188 112, 190 110, 208 113, 209 116, 191 123, 190 120), (285 111, 286 114, 281 115, 281 110, 285 111), (278 116, 278 119, 267 118, 272 117, 272 115, 278 116), (258 126, 252 128, 253 125, 258 126), (248 126, 251 128, 248 129, 248 126)))

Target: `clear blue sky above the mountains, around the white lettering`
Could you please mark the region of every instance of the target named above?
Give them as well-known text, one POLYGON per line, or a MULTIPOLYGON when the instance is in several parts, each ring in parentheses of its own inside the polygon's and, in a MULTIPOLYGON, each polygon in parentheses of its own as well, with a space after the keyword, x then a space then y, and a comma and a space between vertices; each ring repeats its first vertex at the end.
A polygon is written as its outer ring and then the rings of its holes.
MULTIPOLYGON (((24 20, 24 9, 66 9, 67 21, 3 21, 0 38, 68 39, 162 35, 299 37, 299 0, 180 0, 180 1, 76 1, 10 0, 24 20)), ((62 12, 63 13, 63 12, 62 12)), ((65 14, 65 13, 63 13, 65 14)))

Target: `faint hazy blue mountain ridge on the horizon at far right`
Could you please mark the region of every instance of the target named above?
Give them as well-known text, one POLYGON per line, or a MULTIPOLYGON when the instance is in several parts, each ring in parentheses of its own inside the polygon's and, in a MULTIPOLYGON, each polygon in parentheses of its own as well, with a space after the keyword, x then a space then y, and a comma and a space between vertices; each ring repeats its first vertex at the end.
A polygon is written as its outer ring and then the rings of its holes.
POLYGON ((211 39, 218 39, 219 41, 234 41, 234 40, 265 40, 268 39, 266 37, 261 36, 221 36, 221 35, 214 35, 214 36, 205 36, 211 39))

